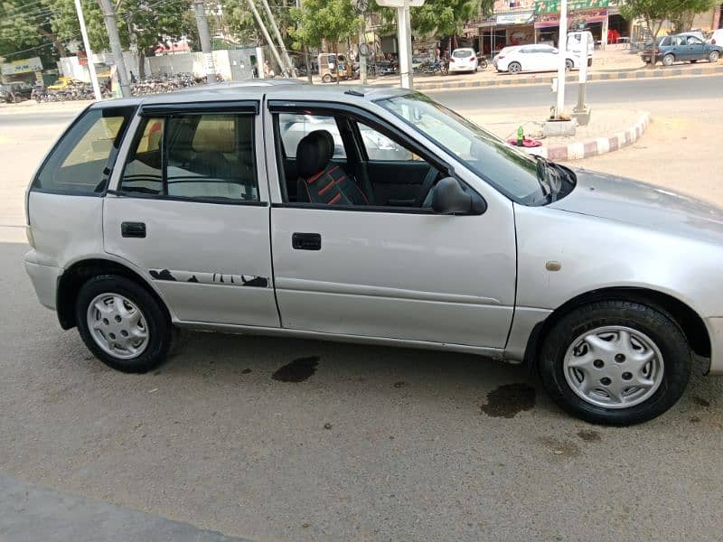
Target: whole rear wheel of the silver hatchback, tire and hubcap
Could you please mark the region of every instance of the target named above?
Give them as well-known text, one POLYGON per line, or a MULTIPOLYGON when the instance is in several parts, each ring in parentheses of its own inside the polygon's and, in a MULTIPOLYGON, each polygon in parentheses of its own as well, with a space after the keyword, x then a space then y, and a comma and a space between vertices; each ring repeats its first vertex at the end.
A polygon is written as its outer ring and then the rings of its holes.
POLYGON ((96 276, 82 285, 75 315, 89 350, 122 372, 155 369, 171 346, 172 327, 164 307, 124 276, 96 276))

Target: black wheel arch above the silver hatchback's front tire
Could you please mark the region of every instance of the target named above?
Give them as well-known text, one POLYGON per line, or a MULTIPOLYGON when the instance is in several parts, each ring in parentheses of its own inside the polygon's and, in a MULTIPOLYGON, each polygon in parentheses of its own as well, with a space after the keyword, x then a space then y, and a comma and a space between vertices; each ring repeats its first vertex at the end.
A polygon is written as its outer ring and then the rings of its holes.
POLYGON ((545 337, 556 322, 569 312, 585 304, 598 301, 609 301, 613 299, 633 301, 647 304, 653 308, 666 313, 673 322, 678 324, 685 335, 690 350, 703 357, 709 357, 711 353, 710 335, 705 322, 688 304, 683 303, 671 294, 664 294, 658 290, 636 286, 607 287, 598 290, 578 294, 561 304, 549 314, 545 320, 538 322, 527 342, 524 360, 531 368, 536 368, 540 347, 545 337))

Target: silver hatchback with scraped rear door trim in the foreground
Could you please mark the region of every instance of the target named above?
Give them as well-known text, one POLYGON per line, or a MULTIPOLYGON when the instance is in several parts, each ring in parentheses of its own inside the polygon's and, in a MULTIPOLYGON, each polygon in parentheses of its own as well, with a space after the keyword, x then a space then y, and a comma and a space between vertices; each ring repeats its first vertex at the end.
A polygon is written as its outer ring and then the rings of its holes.
POLYGON ((127 372, 174 326, 460 351, 615 425, 672 406, 691 352, 723 373, 721 210, 523 154, 406 89, 94 104, 27 224, 41 303, 127 372))

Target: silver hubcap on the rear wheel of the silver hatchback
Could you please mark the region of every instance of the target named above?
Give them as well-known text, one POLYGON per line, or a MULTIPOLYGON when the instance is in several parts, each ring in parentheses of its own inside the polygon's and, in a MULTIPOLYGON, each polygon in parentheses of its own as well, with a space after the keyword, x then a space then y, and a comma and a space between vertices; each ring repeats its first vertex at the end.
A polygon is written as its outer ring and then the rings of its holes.
POLYGON ((140 309, 120 294, 100 294, 88 305, 88 329, 114 358, 130 360, 148 346, 148 326, 140 309))

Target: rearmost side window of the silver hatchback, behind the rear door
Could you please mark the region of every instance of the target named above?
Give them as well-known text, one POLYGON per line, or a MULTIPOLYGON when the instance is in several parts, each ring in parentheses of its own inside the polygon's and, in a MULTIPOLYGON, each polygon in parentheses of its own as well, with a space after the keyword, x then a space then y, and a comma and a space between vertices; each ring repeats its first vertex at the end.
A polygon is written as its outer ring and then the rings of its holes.
POLYGON ((105 192, 134 109, 104 107, 86 111, 42 164, 33 189, 80 195, 105 192))

